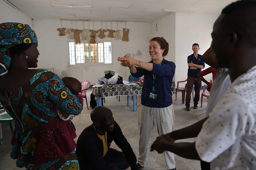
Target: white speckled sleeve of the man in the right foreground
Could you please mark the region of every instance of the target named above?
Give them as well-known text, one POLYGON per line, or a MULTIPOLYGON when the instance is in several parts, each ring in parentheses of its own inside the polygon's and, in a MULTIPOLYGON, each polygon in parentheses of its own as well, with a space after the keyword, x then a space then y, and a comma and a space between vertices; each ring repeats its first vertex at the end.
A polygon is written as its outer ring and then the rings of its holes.
MULTIPOLYGON (((237 95, 223 96, 196 139, 195 147, 203 161, 211 162, 223 152, 232 155, 231 152, 234 151, 229 148, 255 123, 252 108, 246 99, 238 98, 237 95)), ((236 148, 240 149, 238 146, 236 148)))

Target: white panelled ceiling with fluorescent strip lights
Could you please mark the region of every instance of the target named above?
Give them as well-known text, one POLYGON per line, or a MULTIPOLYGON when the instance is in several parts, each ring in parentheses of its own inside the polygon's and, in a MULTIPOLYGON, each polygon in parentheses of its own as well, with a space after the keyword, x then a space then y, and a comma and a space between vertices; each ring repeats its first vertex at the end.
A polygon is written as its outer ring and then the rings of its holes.
POLYGON ((153 22, 170 12, 220 14, 236 0, 4 0, 33 19, 153 22), (52 5, 87 5, 63 8, 52 5))

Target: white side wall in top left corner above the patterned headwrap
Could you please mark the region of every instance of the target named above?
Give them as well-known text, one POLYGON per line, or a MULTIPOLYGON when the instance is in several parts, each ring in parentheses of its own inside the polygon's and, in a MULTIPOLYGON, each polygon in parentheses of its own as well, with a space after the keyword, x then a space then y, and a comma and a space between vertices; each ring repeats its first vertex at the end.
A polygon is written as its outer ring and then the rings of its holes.
POLYGON ((10 6, 5 1, 0 1, 0 23, 3 22, 19 22, 23 24, 28 24, 32 27, 31 18, 23 14, 22 12, 16 10, 10 6))

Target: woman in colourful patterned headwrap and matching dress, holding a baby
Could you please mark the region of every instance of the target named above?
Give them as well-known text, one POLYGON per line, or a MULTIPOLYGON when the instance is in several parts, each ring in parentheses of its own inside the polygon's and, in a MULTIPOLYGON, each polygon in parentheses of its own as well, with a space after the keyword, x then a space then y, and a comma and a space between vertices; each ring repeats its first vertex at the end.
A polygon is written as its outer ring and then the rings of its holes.
POLYGON ((0 102, 15 120, 11 157, 30 170, 78 170, 75 131, 54 108, 77 115, 82 105, 57 75, 29 69, 38 55, 29 25, 0 24, 0 102))

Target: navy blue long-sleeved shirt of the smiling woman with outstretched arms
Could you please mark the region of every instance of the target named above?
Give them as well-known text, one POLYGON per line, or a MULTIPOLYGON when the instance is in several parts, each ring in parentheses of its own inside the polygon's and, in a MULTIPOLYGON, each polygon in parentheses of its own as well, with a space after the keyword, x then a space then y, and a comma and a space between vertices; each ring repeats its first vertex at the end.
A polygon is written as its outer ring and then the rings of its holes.
MULTIPOLYGON (((149 63, 153 63, 153 60, 149 63)), ((141 77, 144 75, 141 104, 152 108, 165 108, 170 106, 173 103, 171 87, 176 68, 174 62, 169 62, 166 59, 163 59, 162 64, 153 63, 153 70, 151 72, 143 68, 135 68, 137 69, 137 72, 132 74, 134 77, 141 77), (149 94, 152 92, 153 87, 152 75, 156 75, 156 99, 149 98, 149 94)))

